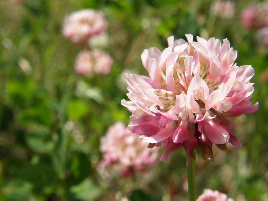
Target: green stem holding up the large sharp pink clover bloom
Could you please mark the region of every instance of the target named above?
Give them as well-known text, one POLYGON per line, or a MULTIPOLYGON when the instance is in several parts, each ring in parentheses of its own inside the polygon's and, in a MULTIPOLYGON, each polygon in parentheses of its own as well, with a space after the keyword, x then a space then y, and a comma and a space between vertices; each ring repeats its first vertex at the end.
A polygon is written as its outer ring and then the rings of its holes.
POLYGON ((188 181, 188 197, 189 201, 196 200, 196 184, 195 184, 195 171, 194 160, 190 157, 189 166, 187 166, 187 181, 188 181))

